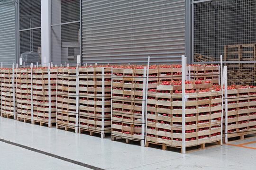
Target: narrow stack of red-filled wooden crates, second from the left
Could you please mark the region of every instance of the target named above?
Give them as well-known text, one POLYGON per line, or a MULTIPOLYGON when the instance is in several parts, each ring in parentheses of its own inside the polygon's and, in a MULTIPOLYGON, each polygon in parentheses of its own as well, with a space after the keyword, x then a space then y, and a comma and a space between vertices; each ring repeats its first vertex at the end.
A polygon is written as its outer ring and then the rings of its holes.
POLYGON ((31 120, 31 68, 17 68, 17 119, 31 120))

